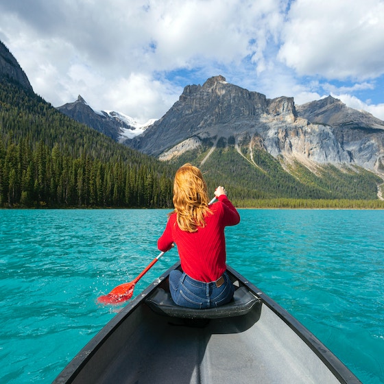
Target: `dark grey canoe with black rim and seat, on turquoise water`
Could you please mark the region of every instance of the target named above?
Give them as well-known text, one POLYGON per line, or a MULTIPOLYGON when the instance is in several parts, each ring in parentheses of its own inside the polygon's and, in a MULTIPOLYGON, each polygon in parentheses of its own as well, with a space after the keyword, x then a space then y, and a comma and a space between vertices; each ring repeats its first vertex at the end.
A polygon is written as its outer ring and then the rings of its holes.
POLYGON ((331 350, 235 269, 232 302, 173 304, 176 263, 123 307, 53 383, 361 383, 331 350))

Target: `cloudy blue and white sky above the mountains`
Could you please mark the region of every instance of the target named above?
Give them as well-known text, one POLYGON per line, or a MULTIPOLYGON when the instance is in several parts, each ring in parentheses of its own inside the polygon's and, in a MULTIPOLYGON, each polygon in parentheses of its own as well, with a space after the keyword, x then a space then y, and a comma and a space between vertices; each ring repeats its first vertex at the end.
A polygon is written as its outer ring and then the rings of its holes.
POLYGON ((145 123, 223 75, 384 120, 384 0, 0 0, 0 40, 53 106, 145 123))

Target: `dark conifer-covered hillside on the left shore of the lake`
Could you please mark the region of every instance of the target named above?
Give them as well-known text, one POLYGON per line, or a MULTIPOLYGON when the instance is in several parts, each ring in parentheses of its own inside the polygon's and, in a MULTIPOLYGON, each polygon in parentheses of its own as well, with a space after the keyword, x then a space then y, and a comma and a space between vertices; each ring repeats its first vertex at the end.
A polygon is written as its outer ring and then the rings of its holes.
POLYGON ((169 207, 173 171, 0 82, 0 207, 169 207))

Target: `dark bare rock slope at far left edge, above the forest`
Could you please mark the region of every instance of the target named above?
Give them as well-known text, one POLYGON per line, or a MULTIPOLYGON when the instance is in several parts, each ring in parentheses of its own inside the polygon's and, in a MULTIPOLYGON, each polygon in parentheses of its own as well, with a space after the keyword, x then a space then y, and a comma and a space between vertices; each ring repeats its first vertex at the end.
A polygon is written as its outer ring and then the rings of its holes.
POLYGON ((33 92, 31 84, 27 75, 25 75, 23 69, 21 69, 19 63, 16 61, 12 53, 7 47, 0 41, 0 81, 6 81, 14 83, 25 91, 33 92))

